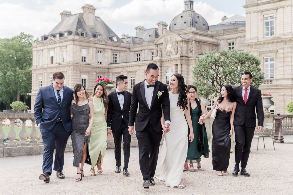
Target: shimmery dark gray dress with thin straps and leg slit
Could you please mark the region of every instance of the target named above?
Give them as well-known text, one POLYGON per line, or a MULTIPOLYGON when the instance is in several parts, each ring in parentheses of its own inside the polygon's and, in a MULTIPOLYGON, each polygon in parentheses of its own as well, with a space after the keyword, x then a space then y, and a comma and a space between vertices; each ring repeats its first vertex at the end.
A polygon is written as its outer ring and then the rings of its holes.
MULTIPOLYGON (((72 148, 73 148, 73 166, 78 167, 81 161, 81 153, 82 148, 87 142, 87 146, 89 147, 90 137, 91 135, 85 136, 86 129, 89 125, 89 114, 90 107, 87 104, 82 106, 77 106, 75 103, 72 104, 72 132, 71 132, 71 140, 72 140, 72 148)), ((87 164, 91 165, 91 158, 88 152, 87 147, 87 164)))

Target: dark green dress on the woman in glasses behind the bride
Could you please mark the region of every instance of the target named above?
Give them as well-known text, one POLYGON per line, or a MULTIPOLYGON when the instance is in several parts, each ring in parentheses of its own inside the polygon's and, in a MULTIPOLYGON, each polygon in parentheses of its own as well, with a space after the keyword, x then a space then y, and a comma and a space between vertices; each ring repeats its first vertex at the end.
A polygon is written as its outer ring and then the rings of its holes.
MULTIPOLYGON (((200 100, 198 100, 200 102, 200 100)), ((192 122, 192 128, 193 128, 193 135, 194 140, 189 143, 188 152, 187 152, 187 162, 195 163, 200 162, 200 157, 203 155, 205 158, 209 157, 209 143, 207 139, 207 130, 205 128, 205 123, 202 124, 202 135, 203 135, 203 143, 204 143, 204 149, 203 151, 197 150, 197 135, 198 135, 198 121, 200 119, 200 115, 198 114, 198 107, 192 109, 192 115, 191 115, 191 122, 192 122)))

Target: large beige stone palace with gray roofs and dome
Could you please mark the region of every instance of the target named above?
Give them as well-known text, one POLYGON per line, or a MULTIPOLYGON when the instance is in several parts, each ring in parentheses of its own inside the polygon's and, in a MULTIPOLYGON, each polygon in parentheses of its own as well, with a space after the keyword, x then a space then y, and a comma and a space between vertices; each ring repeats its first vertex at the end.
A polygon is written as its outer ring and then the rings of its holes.
POLYGON ((182 6, 183 12, 169 25, 159 21, 156 28, 137 26, 136 36, 121 38, 96 16, 93 5, 82 6, 83 13, 60 13, 57 26, 33 44, 31 107, 38 89, 51 84, 56 71, 65 74, 66 86, 82 83, 90 94, 99 77, 115 80, 124 74, 131 92, 150 62, 159 66, 160 81, 168 84, 173 73, 180 73, 192 84, 191 69, 198 57, 239 48, 262 62, 265 82, 260 89, 273 95, 270 112, 287 113, 286 105, 293 100, 292 0, 246 0, 246 17, 224 16, 214 26, 196 13, 192 0, 182 6))

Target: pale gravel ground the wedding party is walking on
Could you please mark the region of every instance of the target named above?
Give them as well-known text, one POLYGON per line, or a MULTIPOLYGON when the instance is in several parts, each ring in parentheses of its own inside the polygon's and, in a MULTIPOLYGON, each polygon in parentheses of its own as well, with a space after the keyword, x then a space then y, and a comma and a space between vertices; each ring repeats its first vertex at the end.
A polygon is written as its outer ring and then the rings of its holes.
MULTIPOLYGON (((75 182, 76 169, 72 167, 73 154, 65 154, 65 179, 58 179, 53 172, 50 183, 40 181, 42 155, 0 158, 1 194, 293 194, 293 136, 284 136, 290 143, 275 143, 265 138, 264 149, 260 140, 253 139, 247 171, 250 177, 232 176, 234 153, 230 157, 229 174, 217 176, 212 170, 212 153, 202 159, 202 168, 196 172, 183 173, 184 189, 166 187, 164 182, 155 179, 156 185, 149 190, 142 187, 139 169, 138 149, 132 148, 129 162, 130 176, 115 173, 114 151, 107 150, 102 165, 103 173, 95 177, 89 174, 89 165, 84 166, 85 177, 75 182)), ((96 169, 97 171, 97 169, 96 169)))

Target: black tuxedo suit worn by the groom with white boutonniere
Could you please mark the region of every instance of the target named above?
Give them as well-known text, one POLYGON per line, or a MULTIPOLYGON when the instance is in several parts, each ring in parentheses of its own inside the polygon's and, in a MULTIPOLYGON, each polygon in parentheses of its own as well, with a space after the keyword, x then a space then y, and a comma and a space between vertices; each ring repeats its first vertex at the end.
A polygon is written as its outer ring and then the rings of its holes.
POLYGON ((134 126, 139 147, 139 166, 143 179, 154 177, 162 140, 162 109, 165 121, 170 121, 170 99, 167 85, 156 81, 150 108, 145 96, 144 81, 133 87, 129 126, 134 126), (158 98, 158 91, 164 91, 158 98), (139 105, 138 105, 139 104, 139 105), (139 110, 137 113, 137 107, 139 110))

